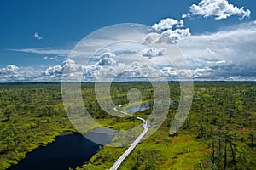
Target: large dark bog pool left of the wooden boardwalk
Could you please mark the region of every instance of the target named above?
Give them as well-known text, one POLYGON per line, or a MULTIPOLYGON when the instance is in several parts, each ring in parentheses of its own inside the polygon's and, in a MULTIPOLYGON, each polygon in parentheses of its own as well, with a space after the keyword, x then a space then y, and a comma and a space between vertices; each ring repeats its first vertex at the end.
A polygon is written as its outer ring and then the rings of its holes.
MULTIPOLYGON (((106 134, 97 134, 105 144, 112 138, 106 134), (108 136, 108 138, 106 138, 108 136), (107 141, 108 140, 108 141, 107 141)), ((47 146, 41 146, 26 155, 25 160, 18 165, 10 167, 11 170, 30 169, 68 169, 77 167, 89 161, 90 157, 96 154, 100 144, 91 142, 79 133, 65 134, 57 137, 55 142, 47 146)))

